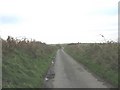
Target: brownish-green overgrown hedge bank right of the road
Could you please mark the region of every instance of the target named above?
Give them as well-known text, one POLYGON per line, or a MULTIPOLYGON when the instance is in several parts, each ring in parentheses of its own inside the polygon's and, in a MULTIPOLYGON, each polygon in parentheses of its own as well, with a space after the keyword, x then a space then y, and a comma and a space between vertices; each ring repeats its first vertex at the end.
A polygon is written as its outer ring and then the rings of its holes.
MULTIPOLYGON (((120 46, 119 46, 120 47, 120 46)), ((118 85, 118 44, 80 43, 65 46, 65 51, 101 78, 118 85)))

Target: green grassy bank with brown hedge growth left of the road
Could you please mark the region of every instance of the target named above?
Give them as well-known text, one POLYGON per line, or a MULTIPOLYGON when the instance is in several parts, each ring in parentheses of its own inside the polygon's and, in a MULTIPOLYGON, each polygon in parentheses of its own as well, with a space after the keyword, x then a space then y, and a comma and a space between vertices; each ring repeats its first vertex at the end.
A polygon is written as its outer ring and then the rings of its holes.
POLYGON ((2 40, 3 88, 40 88, 56 46, 37 41, 2 40))

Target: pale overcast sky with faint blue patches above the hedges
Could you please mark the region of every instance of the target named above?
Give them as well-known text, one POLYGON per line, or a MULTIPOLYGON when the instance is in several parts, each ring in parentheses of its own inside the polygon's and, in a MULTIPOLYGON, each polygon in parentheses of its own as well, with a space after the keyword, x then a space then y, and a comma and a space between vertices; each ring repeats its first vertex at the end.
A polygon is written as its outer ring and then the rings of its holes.
POLYGON ((119 0, 0 0, 0 36, 45 43, 118 38, 119 0))

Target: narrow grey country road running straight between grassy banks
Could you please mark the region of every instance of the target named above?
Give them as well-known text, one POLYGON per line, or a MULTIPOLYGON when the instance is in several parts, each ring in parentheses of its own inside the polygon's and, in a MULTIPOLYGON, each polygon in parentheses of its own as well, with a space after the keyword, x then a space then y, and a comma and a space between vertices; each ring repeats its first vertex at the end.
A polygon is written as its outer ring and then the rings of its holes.
POLYGON ((107 88, 62 49, 57 52, 54 72, 53 88, 107 88))

